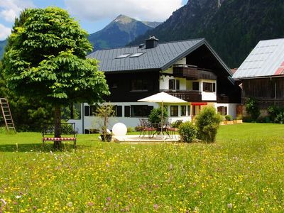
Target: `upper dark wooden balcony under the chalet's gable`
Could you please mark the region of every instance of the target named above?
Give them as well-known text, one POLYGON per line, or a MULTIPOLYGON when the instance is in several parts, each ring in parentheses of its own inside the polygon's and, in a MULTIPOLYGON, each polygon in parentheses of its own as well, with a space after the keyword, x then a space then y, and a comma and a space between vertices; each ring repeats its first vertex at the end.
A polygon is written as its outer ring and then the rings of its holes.
POLYGON ((173 65, 173 75, 175 77, 186 77, 187 80, 217 80, 217 75, 214 72, 192 65, 173 65))

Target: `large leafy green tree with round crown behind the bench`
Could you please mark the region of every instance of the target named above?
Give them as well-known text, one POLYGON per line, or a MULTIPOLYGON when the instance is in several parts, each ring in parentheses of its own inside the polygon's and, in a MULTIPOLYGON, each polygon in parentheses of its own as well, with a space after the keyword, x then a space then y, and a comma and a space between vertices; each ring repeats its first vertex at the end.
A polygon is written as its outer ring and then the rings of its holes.
POLYGON ((97 60, 86 58, 92 50, 87 32, 67 11, 56 7, 24 13, 9 37, 3 60, 9 89, 52 104, 55 124, 60 123, 63 106, 102 102, 109 88, 104 73, 97 70, 97 60))

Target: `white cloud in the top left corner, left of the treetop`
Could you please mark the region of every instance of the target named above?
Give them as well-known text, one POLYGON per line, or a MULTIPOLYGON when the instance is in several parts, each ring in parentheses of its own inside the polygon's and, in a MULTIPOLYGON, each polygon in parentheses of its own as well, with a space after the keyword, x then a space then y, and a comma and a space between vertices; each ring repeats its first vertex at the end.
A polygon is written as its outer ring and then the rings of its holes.
POLYGON ((34 7, 31 0, 0 0, 0 17, 12 23, 23 9, 31 7, 34 7))

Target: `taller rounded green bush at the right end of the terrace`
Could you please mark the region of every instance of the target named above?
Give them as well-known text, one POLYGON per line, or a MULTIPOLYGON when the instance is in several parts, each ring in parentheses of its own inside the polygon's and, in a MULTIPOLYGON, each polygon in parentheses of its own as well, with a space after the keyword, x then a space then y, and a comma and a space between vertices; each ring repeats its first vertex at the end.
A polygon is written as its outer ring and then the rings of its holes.
POLYGON ((214 143, 222 116, 214 107, 205 107, 195 120, 200 139, 207 143, 214 143))

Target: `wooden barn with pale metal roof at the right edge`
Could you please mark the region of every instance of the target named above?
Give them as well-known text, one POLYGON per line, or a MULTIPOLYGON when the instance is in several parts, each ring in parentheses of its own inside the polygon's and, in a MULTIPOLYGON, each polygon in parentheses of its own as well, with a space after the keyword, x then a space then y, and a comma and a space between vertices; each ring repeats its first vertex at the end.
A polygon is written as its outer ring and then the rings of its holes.
POLYGON ((241 102, 258 100, 261 114, 284 107, 284 38, 261 40, 233 75, 242 88, 241 102))

